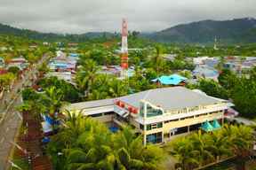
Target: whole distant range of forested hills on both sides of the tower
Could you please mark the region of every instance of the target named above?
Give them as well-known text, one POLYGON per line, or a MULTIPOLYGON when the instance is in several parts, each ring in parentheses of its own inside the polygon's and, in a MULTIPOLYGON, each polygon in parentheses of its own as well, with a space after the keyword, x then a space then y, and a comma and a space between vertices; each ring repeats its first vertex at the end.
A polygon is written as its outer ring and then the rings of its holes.
MULTIPOLYGON (((0 24, 0 35, 26 36, 35 40, 44 41, 73 41, 83 42, 101 36, 111 37, 113 33, 90 32, 82 35, 60 35, 40 33, 28 29, 20 29, 0 24)), ((216 37, 221 43, 256 42, 256 19, 230 19, 230 20, 202 20, 188 24, 180 24, 154 33, 140 33, 156 42, 178 43, 212 43, 216 37)))

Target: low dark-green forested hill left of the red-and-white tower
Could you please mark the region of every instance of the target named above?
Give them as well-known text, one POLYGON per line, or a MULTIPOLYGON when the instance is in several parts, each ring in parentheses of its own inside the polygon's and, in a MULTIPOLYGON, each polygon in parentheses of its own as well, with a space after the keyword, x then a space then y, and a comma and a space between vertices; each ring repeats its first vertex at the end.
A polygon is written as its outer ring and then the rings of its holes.
POLYGON ((7 26, 0 23, 0 35, 17 35, 25 36, 34 40, 43 41, 71 41, 71 42, 84 42, 88 39, 97 37, 110 37, 113 36, 111 33, 107 32, 89 32, 83 35, 60 35, 53 33, 40 33, 37 31, 32 31, 28 29, 20 29, 16 27, 7 26))

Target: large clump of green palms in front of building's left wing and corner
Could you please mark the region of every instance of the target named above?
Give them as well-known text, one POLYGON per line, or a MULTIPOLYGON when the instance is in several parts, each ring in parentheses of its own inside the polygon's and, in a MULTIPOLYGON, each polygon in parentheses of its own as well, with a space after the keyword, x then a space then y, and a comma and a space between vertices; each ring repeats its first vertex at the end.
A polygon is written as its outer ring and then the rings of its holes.
POLYGON ((113 134, 97 120, 67 114, 65 127, 47 147, 55 169, 159 169, 164 151, 155 145, 144 146, 132 128, 113 134))

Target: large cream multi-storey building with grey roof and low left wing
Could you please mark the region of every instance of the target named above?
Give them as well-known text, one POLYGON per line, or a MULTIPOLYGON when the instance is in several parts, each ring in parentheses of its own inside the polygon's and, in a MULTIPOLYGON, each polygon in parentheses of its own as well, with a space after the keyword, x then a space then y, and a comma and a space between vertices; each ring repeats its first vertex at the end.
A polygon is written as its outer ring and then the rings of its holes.
POLYGON ((172 135, 201 128, 204 122, 214 120, 221 124, 228 102, 184 87, 172 87, 71 104, 67 109, 82 111, 102 122, 129 124, 144 136, 146 144, 164 143, 172 135))

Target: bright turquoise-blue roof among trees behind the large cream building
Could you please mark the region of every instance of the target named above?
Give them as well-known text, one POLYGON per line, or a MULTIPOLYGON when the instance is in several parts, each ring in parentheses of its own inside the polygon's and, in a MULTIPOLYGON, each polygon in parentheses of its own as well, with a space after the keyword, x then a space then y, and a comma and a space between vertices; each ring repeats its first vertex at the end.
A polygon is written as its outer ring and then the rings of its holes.
POLYGON ((153 82, 159 81, 163 85, 178 85, 182 81, 186 81, 187 78, 180 76, 178 74, 172 74, 172 75, 163 75, 161 77, 157 77, 154 80, 151 80, 153 82))

